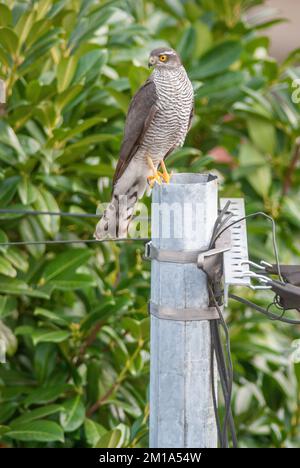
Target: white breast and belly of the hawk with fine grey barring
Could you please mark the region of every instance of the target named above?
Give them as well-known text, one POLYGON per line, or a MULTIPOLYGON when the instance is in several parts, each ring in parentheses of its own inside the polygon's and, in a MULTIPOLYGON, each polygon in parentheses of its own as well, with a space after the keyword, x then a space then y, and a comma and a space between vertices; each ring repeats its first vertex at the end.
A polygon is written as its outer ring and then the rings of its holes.
POLYGON ((162 68, 157 67, 152 75, 158 112, 137 155, 149 155, 155 166, 172 148, 183 145, 193 107, 193 88, 184 67, 162 68))

